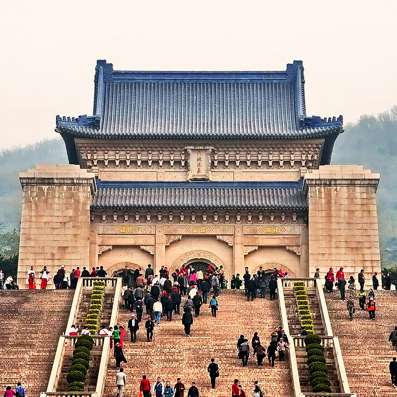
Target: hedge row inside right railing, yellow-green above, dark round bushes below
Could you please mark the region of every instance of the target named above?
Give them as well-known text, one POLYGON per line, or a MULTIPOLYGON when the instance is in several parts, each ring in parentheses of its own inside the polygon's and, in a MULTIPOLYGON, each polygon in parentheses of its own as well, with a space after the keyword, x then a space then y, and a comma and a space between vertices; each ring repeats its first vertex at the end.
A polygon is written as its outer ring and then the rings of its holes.
POLYGON ((309 333, 305 337, 305 345, 312 390, 314 393, 331 393, 331 381, 328 376, 328 368, 324 357, 324 346, 321 345, 321 337, 314 333, 313 316, 310 312, 303 281, 294 282, 294 293, 301 326, 309 333))

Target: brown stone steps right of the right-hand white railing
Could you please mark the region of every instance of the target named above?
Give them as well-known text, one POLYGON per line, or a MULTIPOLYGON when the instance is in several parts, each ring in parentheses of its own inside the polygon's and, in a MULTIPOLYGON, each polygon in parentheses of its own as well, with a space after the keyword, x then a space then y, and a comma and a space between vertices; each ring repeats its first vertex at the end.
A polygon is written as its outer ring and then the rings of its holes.
POLYGON ((360 311, 356 293, 352 294, 356 307, 353 321, 349 320, 346 302, 339 300, 339 292, 326 294, 332 330, 339 337, 350 390, 357 397, 396 396, 391 386, 389 362, 397 352, 388 339, 397 326, 397 292, 375 291, 375 321, 369 319, 368 311, 360 311))

